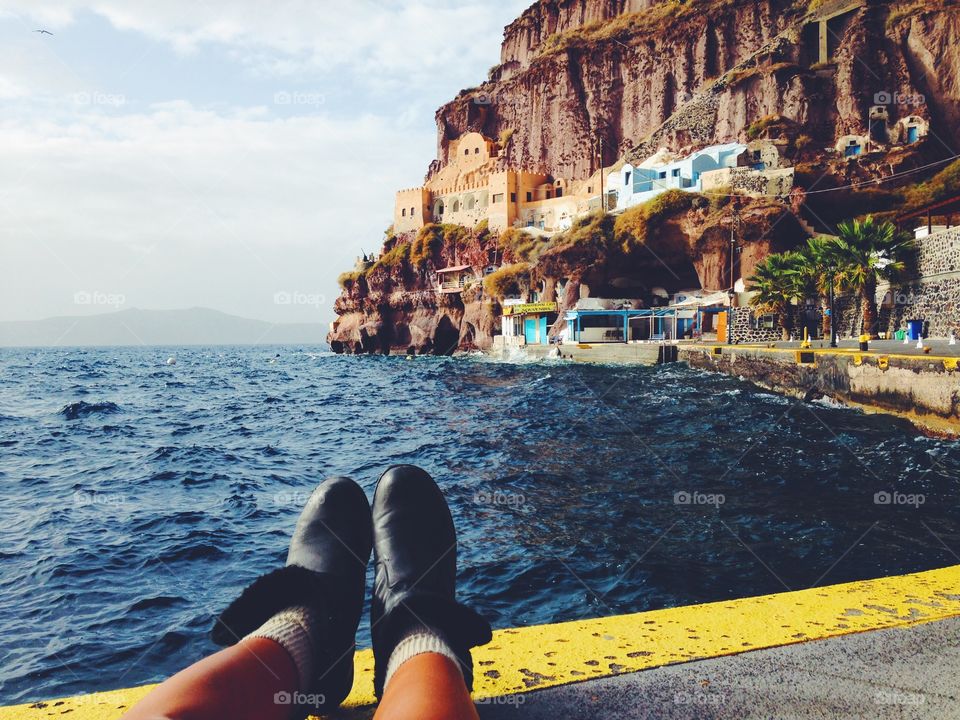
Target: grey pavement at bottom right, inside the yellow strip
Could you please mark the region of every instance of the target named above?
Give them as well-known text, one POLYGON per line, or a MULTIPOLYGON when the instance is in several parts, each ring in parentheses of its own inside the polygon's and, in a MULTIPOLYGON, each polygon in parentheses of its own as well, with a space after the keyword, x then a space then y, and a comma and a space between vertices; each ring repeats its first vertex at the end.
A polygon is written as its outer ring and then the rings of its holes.
POLYGON ((498 698, 482 720, 960 718, 960 618, 498 698))

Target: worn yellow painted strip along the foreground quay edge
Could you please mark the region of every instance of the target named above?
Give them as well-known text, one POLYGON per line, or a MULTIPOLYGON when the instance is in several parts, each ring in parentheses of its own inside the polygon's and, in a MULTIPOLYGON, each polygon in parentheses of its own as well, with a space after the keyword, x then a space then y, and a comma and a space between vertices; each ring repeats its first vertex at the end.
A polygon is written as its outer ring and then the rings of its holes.
MULTIPOLYGON (((960 616, 960 565, 592 620, 498 630, 474 651, 474 697, 500 697, 703 658, 960 616)), ((373 697, 373 655, 355 657, 346 704, 373 697)), ((109 720, 150 688, 0 708, 0 720, 109 720)))

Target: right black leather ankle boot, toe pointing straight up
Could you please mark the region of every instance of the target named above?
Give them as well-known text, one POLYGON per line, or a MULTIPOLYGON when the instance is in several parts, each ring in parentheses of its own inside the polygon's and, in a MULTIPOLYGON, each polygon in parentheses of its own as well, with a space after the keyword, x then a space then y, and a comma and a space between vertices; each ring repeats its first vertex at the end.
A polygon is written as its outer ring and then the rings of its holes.
POLYGON ((373 497, 373 546, 370 631, 377 697, 383 695, 390 654, 419 627, 450 645, 472 689, 470 648, 490 642, 490 625, 454 599, 457 533, 440 488, 420 468, 397 465, 381 476, 373 497))

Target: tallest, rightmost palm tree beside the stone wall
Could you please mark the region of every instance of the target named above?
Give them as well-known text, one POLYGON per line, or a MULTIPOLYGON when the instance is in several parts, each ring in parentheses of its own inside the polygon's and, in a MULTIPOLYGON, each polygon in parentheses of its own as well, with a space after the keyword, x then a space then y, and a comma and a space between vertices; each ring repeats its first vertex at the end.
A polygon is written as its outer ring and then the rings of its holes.
POLYGON ((913 240, 887 221, 847 220, 837 225, 840 284, 860 295, 863 333, 877 337, 877 281, 892 280, 905 266, 913 240))

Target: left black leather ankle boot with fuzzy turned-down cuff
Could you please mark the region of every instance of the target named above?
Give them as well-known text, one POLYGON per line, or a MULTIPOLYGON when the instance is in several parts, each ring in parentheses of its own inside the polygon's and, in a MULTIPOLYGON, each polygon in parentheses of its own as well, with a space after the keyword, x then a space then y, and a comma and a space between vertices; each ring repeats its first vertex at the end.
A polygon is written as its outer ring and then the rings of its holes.
POLYGON ((286 567, 260 577, 217 619, 213 640, 232 645, 291 606, 320 618, 315 681, 300 688, 316 702, 301 715, 330 711, 350 694, 357 626, 373 542, 370 505, 353 480, 325 480, 307 501, 290 540, 286 567))

